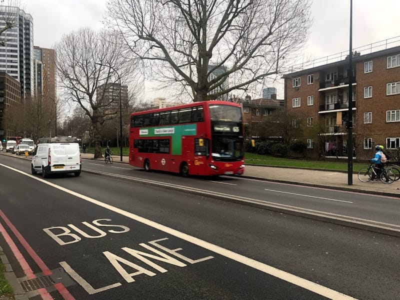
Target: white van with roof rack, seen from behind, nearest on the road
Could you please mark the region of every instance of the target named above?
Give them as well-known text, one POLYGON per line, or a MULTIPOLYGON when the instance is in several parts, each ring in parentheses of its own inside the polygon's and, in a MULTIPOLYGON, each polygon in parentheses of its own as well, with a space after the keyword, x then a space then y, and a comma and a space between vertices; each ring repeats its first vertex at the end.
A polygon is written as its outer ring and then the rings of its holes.
POLYGON ((32 154, 32 174, 41 172, 44 178, 55 173, 80 175, 81 159, 77 142, 39 143, 32 154))

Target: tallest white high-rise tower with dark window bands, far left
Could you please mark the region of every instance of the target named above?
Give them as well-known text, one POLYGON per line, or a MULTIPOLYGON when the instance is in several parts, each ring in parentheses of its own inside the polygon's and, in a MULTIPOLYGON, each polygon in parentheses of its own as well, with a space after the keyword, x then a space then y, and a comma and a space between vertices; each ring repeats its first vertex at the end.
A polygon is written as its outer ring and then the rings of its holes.
POLYGON ((16 26, 5 30, 0 44, 0 72, 5 72, 21 84, 22 95, 33 88, 33 19, 22 9, 0 6, 0 26, 15 16, 16 26))

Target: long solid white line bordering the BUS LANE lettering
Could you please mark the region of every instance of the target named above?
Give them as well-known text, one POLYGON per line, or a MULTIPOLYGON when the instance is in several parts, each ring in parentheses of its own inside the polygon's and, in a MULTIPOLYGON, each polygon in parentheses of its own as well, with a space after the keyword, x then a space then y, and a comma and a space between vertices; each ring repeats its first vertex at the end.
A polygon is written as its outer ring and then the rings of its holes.
POLYGON ((125 216, 127 218, 130 218, 132 220, 138 221, 140 223, 143 223, 143 224, 145 224, 147 226, 150 226, 150 227, 153 227, 155 229, 164 231, 164 232, 166 232, 168 234, 174 235, 174 236, 176 236, 178 238, 181 238, 181 239, 186 240, 188 242, 191 242, 191 243, 193 243, 195 245, 198 245, 198 246, 200 246, 200 247, 202 247, 204 249, 210 250, 212 252, 215 252, 217 254, 220 254, 222 256, 225 256, 227 258, 230 258, 232 260, 240 262, 240 263, 242 263, 244 265, 247 265, 249 267, 257 269, 257 270, 259 270, 261 272, 264 272, 266 274, 270 274, 270 275, 275 276, 275 277, 277 277, 279 279, 282 279, 284 281, 287 281, 287 282, 290 282, 290 283, 295 284, 297 286, 300 286, 302 288, 308 289, 308 290, 310 290, 310 291, 312 291, 314 293, 317 293, 319 295, 322 295, 322 296, 324 296, 324 297, 326 297, 328 299, 332 299, 332 300, 356 300, 355 298, 353 298, 351 296, 345 295, 345 294, 343 294, 341 292, 338 292, 336 290, 330 289, 330 288, 325 287, 323 285, 320 285, 318 283, 315 283, 315 282, 312 282, 310 280, 301 278, 299 276, 290 274, 290 273, 288 273, 286 271, 280 270, 280 269, 275 268, 273 266, 270 266, 268 264, 262 263, 260 261, 254 260, 254 259, 246 257, 244 255, 238 254, 238 253, 233 252, 231 250, 225 249, 225 248, 220 247, 218 245, 215 245, 215 244, 212 244, 212 243, 207 242, 205 240, 202 240, 200 238, 191 236, 189 234, 180 232, 180 231, 175 230, 173 228, 170 228, 170 227, 164 226, 162 224, 156 223, 154 221, 151 221, 149 219, 146 219, 144 217, 141 217, 141 216, 139 216, 137 214, 134 214, 134 213, 131 213, 129 211, 126 211, 126 210, 120 209, 118 207, 103 203, 103 202, 101 202, 99 200, 96 200, 96 199, 93 199, 91 197, 85 196, 83 194, 77 193, 77 192, 75 192, 73 190, 70 190, 70 189, 67 189, 65 187, 59 186, 57 184, 54 184, 52 182, 46 181, 46 180, 44 180, 42 178, 39 178, 37 176, 33 176, 31 174, 25 173, 23 171, 20 171, 18 169, 15 169, 13 167, 8 166, 8 165, 2 164, 2 163, 0 163, 0 165, 3 166, 3 167, 8 168, 10 170, 13 170, 15 172, 21 173, 21 174, 23 174, 25 176, 28 176, 28 177, 30 177, 32 179, 35 179, 37 181, 40 181, 40 182, 45 183, 47 185, 50 185, 50 186, 52 186, 54 188, 62 190, 62 191, 66 192, 66 193, 69 193, 69 194, 71 194, 73 196, 81 198, 82 200, 88 201, 90 203, 93 203, 93 204, 98 205, 100 207, 103 207, 105 209, 108 209, 108 210, 111 210, 113 212, 119 213, 119 214, 121 214, 121 215, 123 215, 123 216, 125 216))

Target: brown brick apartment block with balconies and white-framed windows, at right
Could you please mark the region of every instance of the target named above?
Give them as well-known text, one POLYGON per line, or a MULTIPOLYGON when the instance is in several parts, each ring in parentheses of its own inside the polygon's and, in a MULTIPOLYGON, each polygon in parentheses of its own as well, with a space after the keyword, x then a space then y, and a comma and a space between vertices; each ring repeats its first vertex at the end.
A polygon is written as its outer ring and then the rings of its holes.
MULTIPOLYGON (((356 158, 382 144, 400 147, 400 46, 353 54, 352 120, 356 158)), ((347 155, 348 57, 283 76, 286 108, 302 118, 309 154, 347 155)))

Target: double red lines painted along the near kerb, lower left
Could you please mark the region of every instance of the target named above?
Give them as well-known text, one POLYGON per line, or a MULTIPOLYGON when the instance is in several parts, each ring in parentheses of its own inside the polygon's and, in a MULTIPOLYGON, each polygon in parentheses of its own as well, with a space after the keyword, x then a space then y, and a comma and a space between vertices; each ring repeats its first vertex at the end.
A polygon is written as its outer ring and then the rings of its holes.
MULTIPOLYGON (((41 260, 41 258, 36 254, 36 252, 28 244, 28 242, 25 240, 25 238, 23 238, 22 234, 19 233, 18 229, 16 229, 15 226, 11 223, 11 221, 5 216, 4 212, 1 209, 0 209, 0 216, 4 220, 4 222, 7 224, 7 226, 11 229, 12 233, 15 234, 16 238, 19 240, 19 242, 22 244, 22 246, 28 252, 30 257, 32 257, 34 262, 36 262, 36 264, 39 266, 39 268, 43 272, 43 275, 45 275, 45 276, 51 275, 52 272, 47 267, 47 265, 44 263, 44 261, 41 260)), ((25 272, 26 276, 28 277, 28 279, 36 278, 32 269, 29 267, 25 258, 22 256, 22 253, 18 250, 18 247, 15 245, 12 238, 5 231, 5 228, 3 227, 3 225, 1 223, 0 223, 0 232, 3 234, 4 239, 10 246, 12 252, 14 253, 14 256, 17 258, 18 262, 20 263, 20 265, 21 265, 23 271, 25 272)), ((54 287, 58 290, 58 292, 61 294, 61 296, 65 300, 75 300, 75 298, 69 293, 69 291, 65 288, 65 286, 62 283, 55 283, 54 287)), ((43 300, 52 300, 53 299, 53 297, 51 297, 51 295, 48 293, 48 291, 45 288, 39 288, 37 291, 40 293, 40 296, 43 298, 43 300)))

